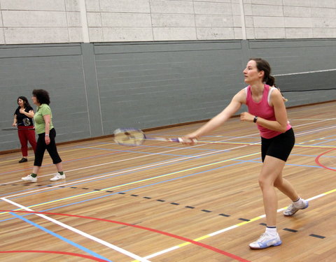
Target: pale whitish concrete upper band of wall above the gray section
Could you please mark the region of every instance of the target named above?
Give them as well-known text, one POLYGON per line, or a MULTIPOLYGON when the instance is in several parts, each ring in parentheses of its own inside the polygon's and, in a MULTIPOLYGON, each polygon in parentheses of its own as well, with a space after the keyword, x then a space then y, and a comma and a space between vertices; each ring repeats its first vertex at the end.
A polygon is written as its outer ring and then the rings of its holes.
POLYGON ((336 0, 0 0, 0 44, 335 38, 336 0))

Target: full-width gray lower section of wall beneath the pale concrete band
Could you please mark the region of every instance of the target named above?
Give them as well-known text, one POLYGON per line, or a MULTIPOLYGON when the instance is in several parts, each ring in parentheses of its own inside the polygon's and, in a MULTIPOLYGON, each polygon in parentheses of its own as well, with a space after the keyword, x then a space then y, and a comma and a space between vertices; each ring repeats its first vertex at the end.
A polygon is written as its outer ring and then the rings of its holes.
MULTIPOLYGON (((336 99, 336 39, 3 45, 0 128, 36 88, 50 92, 57 142, 209 119, 245 87, 248 57, 260 56, 287 106, 336 99), (316 88, 331 90, 300 92, 316 88)), ((0 152, 15 148, 17 134, 1 131, 0 152)))

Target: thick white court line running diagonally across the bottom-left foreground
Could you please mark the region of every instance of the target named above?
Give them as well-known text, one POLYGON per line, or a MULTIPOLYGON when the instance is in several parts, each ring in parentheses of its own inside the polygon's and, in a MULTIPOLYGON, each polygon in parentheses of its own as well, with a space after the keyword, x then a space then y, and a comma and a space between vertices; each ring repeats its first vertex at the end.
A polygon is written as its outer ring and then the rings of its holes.
MULTIPOLYGON (((25 207, 24 205, 20 205, 20 204, 18 204, 18 203, 15 203, 15 202, 13 202, 13 201, 10 201, 10 200, 7 199, 7 198, 1 198, 1 200, 6 201, 6 202, 8 202, 8 203, 10 203, 10 204, 12 204, 12 205, 15 205, 15 206, 17 206, 18 208, 21 208, 21 209, 23 209, 23 210, 26 210, 26 211, 33 211, 33 212, 34 212, 34 210, 31 210, 30 208, 27 208, 27 207, 25 207)), ((34 213, 34 214, 36 214, 36 213, 34 213)), ((77 233, 77 234, 79 234, 79 235, 82 235, 82 236, 85 237, 85 238, 89 238, 90 240, 94 240, 95 242, 98 242, 99 244, 102 244, 102 245, 104 245, 104 246, 106 246, 106 247, 109 247, 110 249, 114 249, 114 250, 116 250, 117 252, 120 252, 120 253, 122 253, 122 254, 124 254, 124 255, 126 255, 126 256, 130 256, 130 257, 132 257, 132 259, 137 259, 137 260, 139 260, 139 261, 141 261, 141 262, 151 262, 151 261, 149 261, 149 260, 147 260, 147 259, 142 258, 141 256, 137 256, 136 254, 133 254, 133 253, 131 253, 131 252, 128 252, 128 251, 125 250, 125 249, 122 249, 122 248, 120 248, 120 247, 117 247, 116 245, 112 245, 112 244, 109 243, 109 242, 106 242, 106 241, 104 241, 104 240, 101 240, 100 238, 96 238, 96 237, 94 237, 93 235, 90 235, 90 234, 87 234, 87 233, 85 233, 85 232, 83 232, 83 231, 80 231, 80 230, 78 230, 77 228, 73 228, 72 226, 66 225, 66 224, 64 224, 64 223, 62 223, 62 222, 60 222, 60 221, 58 221, 58 220, 56 220, 56 219, 52 219, 51 217, 48 217, 48 216, 46 216, 45 214, 36 214, 36 216, 38 216, 38 217, 42 217, 43 219, 46 219, 46 220, 48 220, 48 221, 50 221, 50 222, 52 222, 52 223, 54 223, 54 224, 57 224, 57 225, 62 226, 62 227, 64 227, 64 228, 66 228, 66 229, 69 229, 70 231, 73 231, 74 233, 77 233)))

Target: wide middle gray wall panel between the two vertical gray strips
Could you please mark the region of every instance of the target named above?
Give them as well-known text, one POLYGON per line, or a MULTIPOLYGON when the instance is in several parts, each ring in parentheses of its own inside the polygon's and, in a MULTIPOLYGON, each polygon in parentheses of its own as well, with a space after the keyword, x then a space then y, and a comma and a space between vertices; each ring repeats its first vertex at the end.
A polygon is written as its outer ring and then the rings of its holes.
POLYGON ((209 107, 206 101, 223 103, 237 92, 235 68, 242 63, 237 41, 98 45, 94 50, 104 132, 178 124, 179 115, 186 114, 188 121, 207 119, 223 105, 209 107), (223 94, 218 94, 220 86, 226 87, 223 94), (109 109, 116 112, 113 118, 109 109))

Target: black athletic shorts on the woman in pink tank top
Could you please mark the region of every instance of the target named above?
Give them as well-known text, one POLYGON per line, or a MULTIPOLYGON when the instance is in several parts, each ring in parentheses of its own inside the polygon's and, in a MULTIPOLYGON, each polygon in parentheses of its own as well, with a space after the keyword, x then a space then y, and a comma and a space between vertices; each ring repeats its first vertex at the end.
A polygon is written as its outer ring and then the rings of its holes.
POLYGON ((274 138, 261 138, 261 159, 262 162, 266 156, 276 157, 283 161, 287 161, 290 151, 292 151, 295 143, 293 129, 288 129, 285 133, 281 133, 274 138))

